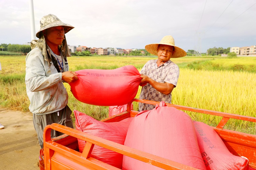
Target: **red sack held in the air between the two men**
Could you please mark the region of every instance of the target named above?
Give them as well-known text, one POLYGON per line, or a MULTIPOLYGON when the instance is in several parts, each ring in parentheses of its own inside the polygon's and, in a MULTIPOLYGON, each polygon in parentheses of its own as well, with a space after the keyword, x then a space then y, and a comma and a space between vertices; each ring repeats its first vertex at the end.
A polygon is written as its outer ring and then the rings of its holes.
POLYGON ((87 104, 115 106, 135 98, 141 77, 132 66, 113 70, 84 69, 76 71, 78 80, 69 83, 74 97, 87 104))

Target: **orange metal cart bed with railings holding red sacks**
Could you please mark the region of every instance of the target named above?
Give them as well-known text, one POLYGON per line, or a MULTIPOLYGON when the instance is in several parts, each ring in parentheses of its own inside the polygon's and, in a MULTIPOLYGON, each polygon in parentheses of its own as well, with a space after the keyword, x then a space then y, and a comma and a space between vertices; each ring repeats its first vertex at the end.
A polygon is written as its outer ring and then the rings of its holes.
MULTIPOLYGON (((159 104, 159 102, 156 101, 133 99, 128 104, 127 112, 122 112, 118 115, 109 117, 102 121, 118 122, 128 117, 134 117, 136 114, 138 114, 138 111, 130 109, 133 101, 154 105, 159 104)), ((256 122, 255 117, 216 112, 205 109, 197 109, 174 104, 166 105, 168 107, 175 107, 180 110, 221 116, 221 121, 216 127, 213 127, 213 129, 218 133, 218 135, 221 137, 221 139, 230 150, 230 152, 232 152, 232 154, 237 156, 243 155, 244 157, 248 158, 249 167, 256 169, 256 135, 223 129, 224 125, 230 118, 256 122)), ((142 152, 140 150, 136 150, 56 123, 46 126, 46 128, 44 129, 43 137, 44 163, 46 170, 119 170, 114 166, 90 157, 90 153, 92 152, 93 146, 95 144, 109 150, 121 153, 123 155, 135 158, 137 160, 150 163, 163 169, 197 170, 193 167, 186 166, 184 164, 161 158, 159 156, 152 155, 146 152, 142 152), (64 133, 64 135, 51 139, 51 129, 60 131, 64 133), (82 153, 79 152, 77 139, 82 139, 86 141, 85 148, 82 153)))

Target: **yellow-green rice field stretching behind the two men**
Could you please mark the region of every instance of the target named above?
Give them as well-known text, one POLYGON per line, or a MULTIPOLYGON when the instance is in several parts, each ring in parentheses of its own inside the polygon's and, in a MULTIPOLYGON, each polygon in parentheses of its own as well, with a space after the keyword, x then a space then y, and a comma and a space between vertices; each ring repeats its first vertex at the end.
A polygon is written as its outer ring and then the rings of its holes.
MULTIPOLYGON (((115 69, 134 65, 140 70, 151 57, 71 57, 70 70, 115 69)), ((171 59, 180 67, 177 87, 172 92, 172 103, 256 117, 256 57, 183 57, 171 59)), ((25 56, 0 56, 0 107, 27 112, 25 56)), ((108 117, 108 107, 93 106, 77 101, 64 83, 69 94, 69 107, 77 109, 97 120, 108 117)), ((140 89, 136 98, 138 98, 140 89)), ((135 108, 137 108, 136 104, 135 108)), ((216 125, 221 117, 188 113, 193 120, 216 125)), ((228 129, 256 134, 255 123, 229 121, 228 129)))

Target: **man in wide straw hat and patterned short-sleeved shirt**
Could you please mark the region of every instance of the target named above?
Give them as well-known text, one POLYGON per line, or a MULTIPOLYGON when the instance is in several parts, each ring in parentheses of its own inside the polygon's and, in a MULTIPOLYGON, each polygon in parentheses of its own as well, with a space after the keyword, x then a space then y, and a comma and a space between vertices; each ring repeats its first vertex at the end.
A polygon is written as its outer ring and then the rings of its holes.
MULTIPOLYGON (((170 58, 184 57, 187 53, 175 46, 174 38, 164 36, 160 43, 149 44, 145 49, 158 58, 149 60, 141 69, 141 99, 171 103, 171 92, 179 78, 179 67, 170 58), (146 84, 146 85, 145 85, 146 84)), ((152 110, 151 104, 139 104, 139 111, 152 110)))

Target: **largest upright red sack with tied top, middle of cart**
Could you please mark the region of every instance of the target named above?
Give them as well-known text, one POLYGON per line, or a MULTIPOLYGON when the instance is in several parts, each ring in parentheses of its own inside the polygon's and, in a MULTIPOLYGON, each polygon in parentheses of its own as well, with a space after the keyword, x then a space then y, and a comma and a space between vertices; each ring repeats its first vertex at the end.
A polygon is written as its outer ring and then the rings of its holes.
MULTIPOLYGON (((156 106, 138 113, 130 123, 124 145, 206 170, 191 118, 174 107, 156 106)), ((123 170, 161 169, 124 156, 123 170)))

